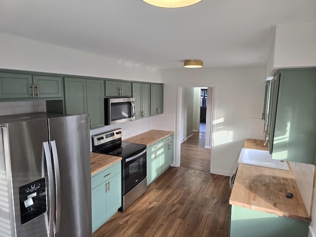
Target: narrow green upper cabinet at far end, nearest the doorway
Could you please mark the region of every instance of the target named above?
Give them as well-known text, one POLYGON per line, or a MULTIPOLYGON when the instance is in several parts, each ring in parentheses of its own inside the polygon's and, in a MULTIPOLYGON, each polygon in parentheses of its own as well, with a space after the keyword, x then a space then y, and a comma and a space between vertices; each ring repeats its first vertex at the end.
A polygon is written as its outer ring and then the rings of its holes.
POLYGON ((163 113, 163 84, 150 84, 150 115, 163 113))

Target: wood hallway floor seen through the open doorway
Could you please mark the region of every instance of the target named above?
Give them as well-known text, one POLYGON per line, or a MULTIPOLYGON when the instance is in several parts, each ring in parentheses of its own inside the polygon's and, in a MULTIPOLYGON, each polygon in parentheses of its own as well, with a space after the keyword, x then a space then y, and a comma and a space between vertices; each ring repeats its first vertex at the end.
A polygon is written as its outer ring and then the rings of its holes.
POLYGON ((180 166, 210 171, 211 149, 204 148, 205 132, 193 132, 193 136, 181 143, 180 166))

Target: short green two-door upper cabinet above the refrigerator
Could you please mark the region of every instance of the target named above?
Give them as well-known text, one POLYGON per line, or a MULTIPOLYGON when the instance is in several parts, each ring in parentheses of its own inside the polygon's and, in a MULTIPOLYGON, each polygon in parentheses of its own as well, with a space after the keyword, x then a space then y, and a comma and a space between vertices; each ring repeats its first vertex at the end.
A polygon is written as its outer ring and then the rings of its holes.
POLYGON ((60 76, 0 72, 0 98, 61 98, 60 76))

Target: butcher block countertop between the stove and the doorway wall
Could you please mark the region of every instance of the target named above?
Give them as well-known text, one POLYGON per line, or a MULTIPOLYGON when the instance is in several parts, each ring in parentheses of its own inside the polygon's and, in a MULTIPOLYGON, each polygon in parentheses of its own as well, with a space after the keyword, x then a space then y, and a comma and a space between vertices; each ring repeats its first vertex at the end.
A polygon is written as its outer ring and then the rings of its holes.
POLYGON ((172 135, 172 131, 164 130, 150 130, 147 132, 140 133, 136 136, 125 139, 123 142, 132 142, 138 144, 144 144, 148 147, 158 142, 159 140, 172 135))

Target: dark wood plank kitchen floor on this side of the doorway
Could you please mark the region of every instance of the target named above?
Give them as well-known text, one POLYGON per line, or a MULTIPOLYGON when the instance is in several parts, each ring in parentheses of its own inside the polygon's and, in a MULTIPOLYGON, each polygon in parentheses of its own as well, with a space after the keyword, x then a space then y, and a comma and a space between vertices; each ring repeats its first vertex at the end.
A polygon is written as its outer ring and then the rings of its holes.
POLYGON ((93 237, 228 237, 229 177, 170 167, 93 237))

